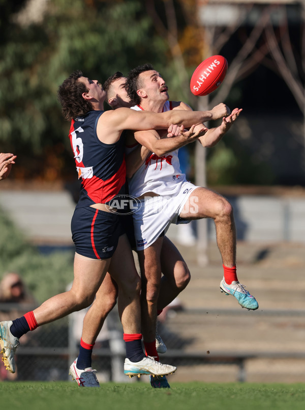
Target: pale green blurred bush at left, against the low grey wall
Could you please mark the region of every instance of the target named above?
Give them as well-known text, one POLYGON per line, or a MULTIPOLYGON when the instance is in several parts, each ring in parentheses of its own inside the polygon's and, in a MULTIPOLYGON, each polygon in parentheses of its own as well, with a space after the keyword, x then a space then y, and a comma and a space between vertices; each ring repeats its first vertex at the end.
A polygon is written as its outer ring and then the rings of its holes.
POLYGON ((66 290, 73 281, 73 252, 53 252, 42 255, 28 243, 0 209, 0 280, 8 271, 20 274, 28 290, 38 302, 66 290))

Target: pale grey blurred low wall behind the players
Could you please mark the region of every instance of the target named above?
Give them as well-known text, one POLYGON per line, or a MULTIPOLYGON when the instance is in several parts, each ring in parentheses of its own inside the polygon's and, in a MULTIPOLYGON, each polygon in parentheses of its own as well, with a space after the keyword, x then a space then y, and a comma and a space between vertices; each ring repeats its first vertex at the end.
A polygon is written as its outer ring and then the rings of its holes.
MULTIPOLYGON (((234 208, 237 239, 263 242, 305 242, 305 198, 227 196, 234 208)), ((31 239, 72 243, 70 222, 75 204, 65 190, 0 190, 0 206, 31 239)), ((168 236, 175 238, 176 226, 168 236)), ((214 222, 208 220, 209 240, 215 241, 214 222)))

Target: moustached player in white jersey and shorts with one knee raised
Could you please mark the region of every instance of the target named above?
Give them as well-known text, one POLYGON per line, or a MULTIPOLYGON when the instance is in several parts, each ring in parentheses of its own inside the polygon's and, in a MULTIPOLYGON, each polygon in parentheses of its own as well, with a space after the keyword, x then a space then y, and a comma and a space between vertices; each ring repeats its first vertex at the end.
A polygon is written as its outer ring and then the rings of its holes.
MULTIPOLYGON (((185 103, 168 102, 168 88, 164 79, 148 64, 130 72, 126 89, 138 110, 155 113, 170 109, 190 110, 185 103)), ((198 138, 200 143, 204 147, 217 144, 240 112, 240 109, 235 108, 229 116, 223 117, 219 127, 209 129, 198 138)), ((239 305, 247 309, 257 309, 258 303, 236 276, 236 231, 230 203, 210 189, 197 187, 186 180, 179 169, 177 151, 167 147, 171 139, 160 136, 155 130, 137 131, 134 136, 152 153, 129 180, 129 189, 130 194, 141 201, 138 211, 133 214, 142 278, 141 329, 145 347, 151 347, 148 351, 146 348, 146 352, 156 356, 153 342, 160 292, 160 255, 164 233, 171 223, 212 218, 224 268, 221 290, 234 295, 239 305)))

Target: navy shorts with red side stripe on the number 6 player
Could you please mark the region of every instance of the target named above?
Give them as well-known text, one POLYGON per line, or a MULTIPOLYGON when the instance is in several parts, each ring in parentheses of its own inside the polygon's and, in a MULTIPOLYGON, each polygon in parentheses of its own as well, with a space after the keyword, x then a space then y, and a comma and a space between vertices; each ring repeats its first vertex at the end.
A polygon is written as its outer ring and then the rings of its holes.
POLYGON ((72 239, 79 255, 108 259, 121 235, 119 215, 86 206, 76 208, 71 221, 72 239))

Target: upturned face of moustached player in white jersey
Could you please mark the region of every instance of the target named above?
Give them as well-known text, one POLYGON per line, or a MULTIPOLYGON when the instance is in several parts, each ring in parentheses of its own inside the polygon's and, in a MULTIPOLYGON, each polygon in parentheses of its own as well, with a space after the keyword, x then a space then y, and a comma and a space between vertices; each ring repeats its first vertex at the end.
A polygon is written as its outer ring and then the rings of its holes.
POLYGON ((140 84, 147 97, 154 101, 167 101, 168 88, 160 73, 155 70, 144 71, 139 75, 140 84))

